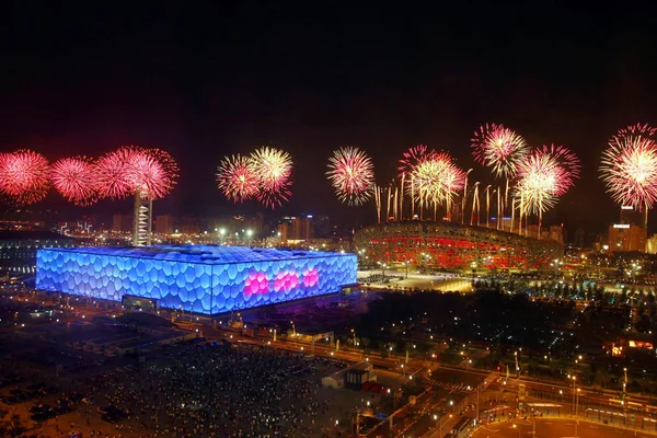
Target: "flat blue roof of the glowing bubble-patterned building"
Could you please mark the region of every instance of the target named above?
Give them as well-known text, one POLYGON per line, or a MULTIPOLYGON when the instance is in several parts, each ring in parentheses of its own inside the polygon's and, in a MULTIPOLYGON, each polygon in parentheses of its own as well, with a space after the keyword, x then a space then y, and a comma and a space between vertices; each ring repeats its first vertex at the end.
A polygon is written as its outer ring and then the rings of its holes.
POLYGON ((219 265, 264 261, 287 261, 295 258, 335 257, 342 253, 318 251, 287 251, 263 247, 224 245, 159 245, 119 247, 56 247, 53 251, 76 254, 106 255, 116 257, 152 258, 169 262, 203 263, 219 265))

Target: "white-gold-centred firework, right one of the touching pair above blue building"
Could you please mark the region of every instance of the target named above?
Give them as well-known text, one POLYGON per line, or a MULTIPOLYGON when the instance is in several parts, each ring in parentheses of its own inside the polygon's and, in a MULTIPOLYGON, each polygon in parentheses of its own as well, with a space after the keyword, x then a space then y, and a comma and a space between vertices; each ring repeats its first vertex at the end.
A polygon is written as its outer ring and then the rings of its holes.
POLYGON ((292 160, 289 153, 262 147, 250 155, 258 177, 257 200, 266 207, 283 205, 291 195, 292 160))

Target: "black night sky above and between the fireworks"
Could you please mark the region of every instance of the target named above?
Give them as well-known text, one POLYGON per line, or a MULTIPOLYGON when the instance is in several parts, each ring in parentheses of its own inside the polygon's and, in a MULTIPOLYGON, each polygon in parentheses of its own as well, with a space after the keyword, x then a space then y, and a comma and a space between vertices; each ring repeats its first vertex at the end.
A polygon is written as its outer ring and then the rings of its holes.
MULTIPOLYGON (((221 157, 272 145, 296 163, 281 212, 362 222, 374 220, 373 204, 341 206, 323 177, 331 150, 361 147, 383 183, 403 150, 425 143, 484 184, 492 178, 470 138, 496 122, 579 155, 583 177, 544 222, 601 230, 619 215, 598 181, 607 139, 657 124, 654 23, 642 11, 145 3, 4 3, 0 150, 56 160, 159 147, 178 160, 181 178, 155 214, 220 215, 258 209, 222 199, 221 157)), ((48 204, 64 205, 56 195, 48 204)))

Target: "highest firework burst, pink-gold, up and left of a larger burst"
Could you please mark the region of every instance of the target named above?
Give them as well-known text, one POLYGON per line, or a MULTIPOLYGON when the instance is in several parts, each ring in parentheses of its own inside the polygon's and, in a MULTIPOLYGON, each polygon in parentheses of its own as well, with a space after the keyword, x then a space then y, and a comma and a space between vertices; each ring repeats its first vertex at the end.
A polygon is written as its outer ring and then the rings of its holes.
POLYGON ((472 154, 479 163, 492 168, 496 176, 510 178, 529 152, 527 142, 504 125, 485 124, 471 140, 472 154))

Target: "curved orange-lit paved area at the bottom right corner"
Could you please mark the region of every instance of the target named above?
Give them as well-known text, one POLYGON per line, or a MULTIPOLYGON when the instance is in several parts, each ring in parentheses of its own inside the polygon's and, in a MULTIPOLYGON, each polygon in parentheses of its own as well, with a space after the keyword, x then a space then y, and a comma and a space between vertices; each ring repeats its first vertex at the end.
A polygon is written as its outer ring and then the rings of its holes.
POLYGON ((535 422, 503 422, 480 427, 473 438, 624 438, 654 437, 634 430, 619 429, 588 422, 537 419, 535 422), (535 428, 534 428, 535 424, 535 428), (535 431, 535 434, 534 434, 535 431))

